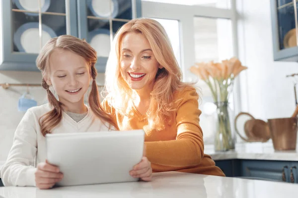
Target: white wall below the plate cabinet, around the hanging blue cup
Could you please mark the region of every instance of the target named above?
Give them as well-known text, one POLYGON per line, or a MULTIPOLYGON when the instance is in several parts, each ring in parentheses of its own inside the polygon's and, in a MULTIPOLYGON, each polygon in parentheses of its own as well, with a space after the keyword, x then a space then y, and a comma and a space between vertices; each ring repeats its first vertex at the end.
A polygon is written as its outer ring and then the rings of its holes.
MULTIPOLYGON (((97 83, 103 84, 104 74, 99 73, 97 83)), ((41 83, 39 72, 1 71, 0 83, 41 83)), ((7 158, 11 148, 14 131, 23 117, 23 112, 18 112, 18 99, 27 91, 26 87, 0 87, 0 162, 7 158)), ((38 105, 43 104, 46 99, 46 91, 42 87, 31 87, 31 96, 37 100, 38 105)))

